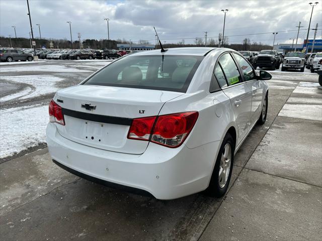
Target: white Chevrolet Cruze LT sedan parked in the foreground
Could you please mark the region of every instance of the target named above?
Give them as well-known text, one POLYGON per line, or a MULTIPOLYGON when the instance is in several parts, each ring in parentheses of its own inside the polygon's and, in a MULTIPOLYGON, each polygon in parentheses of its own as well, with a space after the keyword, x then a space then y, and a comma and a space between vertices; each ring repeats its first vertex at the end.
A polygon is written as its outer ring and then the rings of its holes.
POLYGON ((57 91, 49 153, 101 184, 174 199, 225 194, 233 156, 266 120, 272 76, 226 48, 135 53, 57 91))

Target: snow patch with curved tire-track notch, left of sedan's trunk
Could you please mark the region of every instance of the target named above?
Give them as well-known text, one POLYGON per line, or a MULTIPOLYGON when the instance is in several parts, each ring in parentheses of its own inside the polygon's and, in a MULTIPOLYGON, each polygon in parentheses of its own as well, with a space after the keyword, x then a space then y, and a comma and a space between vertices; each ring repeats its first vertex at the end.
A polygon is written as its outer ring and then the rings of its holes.
POLYGON ((32 85, 32 87, 26 87, 22 91, 14 94, 6 95, 0 98, 0 102, 12 100, 12 99, 26 99, 42 94, 53 93, 57 91, 56 83, 62 81, 62 78, 50 76, 50 75, 20 75, 20 76, 1 76, 1 79, 6 79, 18 83, 26 83, 32 85))

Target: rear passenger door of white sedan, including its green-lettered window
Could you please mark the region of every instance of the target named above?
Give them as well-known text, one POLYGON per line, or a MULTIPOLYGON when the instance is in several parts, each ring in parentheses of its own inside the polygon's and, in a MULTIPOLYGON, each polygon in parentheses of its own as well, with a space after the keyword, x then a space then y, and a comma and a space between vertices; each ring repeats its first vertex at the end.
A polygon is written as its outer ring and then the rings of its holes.
POLYGON ((222 91, 230 99, 238 128, 238 145, 250 130, 252 92, 249 85, 243 82, 238 67, 230 53, 220 56, 214 74, 222 91))

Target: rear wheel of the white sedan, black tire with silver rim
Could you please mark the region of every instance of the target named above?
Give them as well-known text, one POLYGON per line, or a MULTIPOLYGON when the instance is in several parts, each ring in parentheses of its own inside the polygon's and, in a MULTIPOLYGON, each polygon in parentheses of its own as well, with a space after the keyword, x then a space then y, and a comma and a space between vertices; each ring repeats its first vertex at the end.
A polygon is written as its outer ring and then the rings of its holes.
POLYGON ((222 197, 225 195, 231 178, 234 150, 234 140, 227 133, 220 146, 210 183, 206 189, 209 196, 222 197))

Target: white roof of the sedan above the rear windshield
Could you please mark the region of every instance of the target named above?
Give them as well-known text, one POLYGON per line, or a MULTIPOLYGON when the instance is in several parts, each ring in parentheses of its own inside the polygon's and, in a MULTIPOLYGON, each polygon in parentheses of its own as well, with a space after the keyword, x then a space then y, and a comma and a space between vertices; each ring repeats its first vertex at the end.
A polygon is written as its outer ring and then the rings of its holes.
POLYGON ((187 47, 187 48, 169 48, 167 52, 161 52, 160 49, 150 50, 150 51, 143 51, 133 54, 132 56, 139 56, 139 55, 197 55, 197 56, 204 56, 209 51, 216 49, 216 48, 209 48, 209 47, 187 47))

